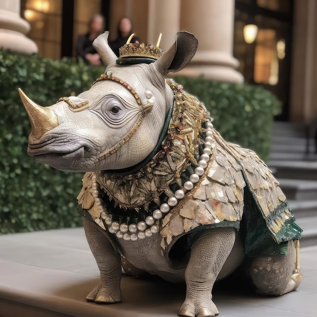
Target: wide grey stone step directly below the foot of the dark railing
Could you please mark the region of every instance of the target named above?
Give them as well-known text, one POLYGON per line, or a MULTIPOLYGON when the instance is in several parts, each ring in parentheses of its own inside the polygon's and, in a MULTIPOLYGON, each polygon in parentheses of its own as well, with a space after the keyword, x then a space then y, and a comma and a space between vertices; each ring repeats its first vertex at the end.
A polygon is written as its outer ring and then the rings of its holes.
POLYGON ((278 179, 317 180, 317 162, 269 160, 267 166, 278 179))

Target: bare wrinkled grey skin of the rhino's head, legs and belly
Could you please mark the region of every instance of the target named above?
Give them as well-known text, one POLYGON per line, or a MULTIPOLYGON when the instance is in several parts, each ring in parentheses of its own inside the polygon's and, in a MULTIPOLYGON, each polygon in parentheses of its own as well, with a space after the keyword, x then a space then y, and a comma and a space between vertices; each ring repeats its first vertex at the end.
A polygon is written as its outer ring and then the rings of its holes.
MULTIPOLYGON (((46 110, 49 111, 46 115, 53 118, 50 124, 47 123, 49 118, 43 119, 42 114, 36 114, 42 108, 27 97, 24 98, 20 92, 32 122, 28 153, 37 162, 73 172, 122 169, 142 161, 157 143, 173 102, 172 91, 164 77, 170 71, 180 70, 190 61, 197 40, 192 34, 179 32, 174 45, 155 63, 120 66, 115 63, 116 56, 108 47, 107 37, 108 32, 105 32, 94 43, 106 71, 112 71, 115 76, 136 88, 143 104, 147 103, 145 91, 152 92, 152 109, 146 113, 137 133, 115 153, 104 158, 100 154, 131 130, 141 111, 135 98, 121 84, 110 80, 101 81, 78 95, 77 99, 73 98, 74 102, 89 101, 89 108, 82 111, 70 111, 64 101, 48 107, 52 111, 46 110), (118 112, 113 111, 115 106, 120 108, 118 112), (41 122, 36 121, 37 115, 42 118, 41 122), (58 125, 54 124, 56 118, 58 125)), ((109 233, 98 225, 84 219, 84 228, 100 269, 100 282, 89 293, 87 300, 96 303, 120 302, 120 253, 110 243, 109 233)), ((185 279, 186 298, 180 308, 180 315, 202 317, 218 314, 212 301, 213 284, 217 277, 221 279, 228 275, 243 261, 242 243, 236 238, 234 229, 214 228, 204 231, 192 246, 186 270, 170 268, 161 253, 160 242, 160 234, 136 242, 117 241, 131 263, 128 264, 130 272, 145 270, 172 282, 185 279)), ((287 256, 254 258, 249 273, 259 293, 282 295, 299 285, 300 279, 296 279, 296 276, 292 279, 294 267, 295 248, 290 241, 287 256)))

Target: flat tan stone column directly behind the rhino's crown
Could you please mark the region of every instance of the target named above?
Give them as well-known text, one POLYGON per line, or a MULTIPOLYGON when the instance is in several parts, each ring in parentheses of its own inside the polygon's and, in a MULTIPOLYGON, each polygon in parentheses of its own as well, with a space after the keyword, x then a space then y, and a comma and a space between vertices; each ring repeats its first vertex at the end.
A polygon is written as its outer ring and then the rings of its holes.
POLYGON ((180 7, 180 0, 148 1, 148 44, 156 44, 160 33, 162 33, 160 46, 162 46, 164 52, 174 43, 175 34, 179 31, 180 7))

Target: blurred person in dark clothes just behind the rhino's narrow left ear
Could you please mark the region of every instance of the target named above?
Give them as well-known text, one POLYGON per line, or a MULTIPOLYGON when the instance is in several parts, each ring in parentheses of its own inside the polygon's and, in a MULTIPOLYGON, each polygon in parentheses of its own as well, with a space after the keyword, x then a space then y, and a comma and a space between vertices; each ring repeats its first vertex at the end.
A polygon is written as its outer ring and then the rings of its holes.
POLYGON ((105 18, 101 14, 94 14, 88 23, 88 33, 78 36, 77 57, 80 56, 92 65, 100 65, 101 60, 93 48, 94 39, 104 32, 105 18))

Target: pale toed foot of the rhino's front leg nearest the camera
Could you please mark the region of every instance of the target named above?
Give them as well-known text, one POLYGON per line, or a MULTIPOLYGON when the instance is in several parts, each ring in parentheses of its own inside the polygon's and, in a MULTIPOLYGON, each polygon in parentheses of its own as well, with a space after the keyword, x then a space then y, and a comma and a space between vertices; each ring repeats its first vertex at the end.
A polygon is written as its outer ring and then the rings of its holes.
POLYGON ((185 300, 181 306, 179 313, 180 316, 186 317, 209 317, 216 316, 219 311, 210 298, 200 303, 193 303, 192 301, 185 300))

